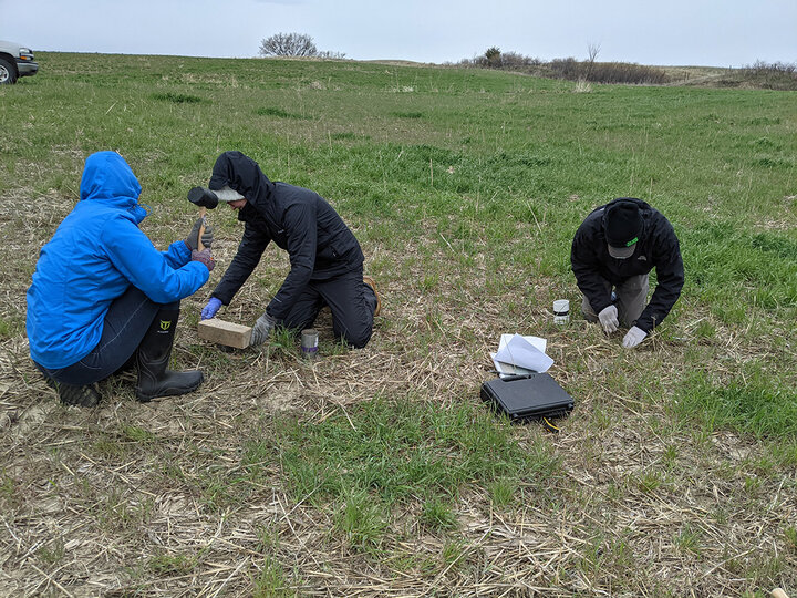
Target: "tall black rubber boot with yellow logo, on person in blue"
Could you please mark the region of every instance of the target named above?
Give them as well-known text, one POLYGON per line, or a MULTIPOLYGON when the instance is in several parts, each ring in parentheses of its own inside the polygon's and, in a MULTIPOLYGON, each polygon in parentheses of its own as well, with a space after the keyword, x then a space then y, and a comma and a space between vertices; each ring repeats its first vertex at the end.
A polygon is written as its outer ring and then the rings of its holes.
POLYGON ((138 346, 136 399, 146 403, 157 396, 174 396, 195 391, 203 383, 199 370, 173 372, 168 369, 179 309, 162 309, 138 346))

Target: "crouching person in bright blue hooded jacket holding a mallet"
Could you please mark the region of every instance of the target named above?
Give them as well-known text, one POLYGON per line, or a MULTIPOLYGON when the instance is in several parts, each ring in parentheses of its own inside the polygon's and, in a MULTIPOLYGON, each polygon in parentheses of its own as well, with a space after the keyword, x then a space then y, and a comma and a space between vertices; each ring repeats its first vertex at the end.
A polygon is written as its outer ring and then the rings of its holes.
MULTIPOLYGON (((179 301, 205 285, 214 267, 210 249, 198 250, 203 219, 184 241, 158 251, 138 228, 147 214, 141 190, 120 154, 92 154, 80 202, 41 249, 25 328, 31 358, 63 403, 96 405, 95 383, 133 361, 139 401, 192 392, 203 382, 200 371, 167 369, 179 301)), ((213 231, 201 243, 209 247, 213 231)))

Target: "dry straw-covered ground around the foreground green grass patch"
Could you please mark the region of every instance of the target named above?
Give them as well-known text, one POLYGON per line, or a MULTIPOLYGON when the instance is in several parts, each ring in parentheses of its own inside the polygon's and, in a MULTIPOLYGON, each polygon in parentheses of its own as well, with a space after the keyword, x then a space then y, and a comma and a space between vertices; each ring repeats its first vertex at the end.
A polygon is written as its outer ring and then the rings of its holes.
MULTIPOLYGON (((203 297, 192 298, 175 358, 205 370, 198 392, 139 404, 127 374, 104 383, 96 410, 61 406, 28 358, 20 319, 30 248, 70 207, 63 197, 0 197, 1 309, 17 322, 0 343, 0 595, 738 596, 775 580, 797 587, 783 532, 797 520, 794 470, 766 470, 765 446, 749 439, 679 426, 660 399, 677 390, 686 343, 654 337, 622 352, 582 322, 552 328, 544 307, 506 313, 485 299, 484 267, 447 270, 425 292, 418 256, 392 256, 371 344, 315 363, 203 346, 190 326, 203 297), (441 409, 477 401, 506 322, 545 331, 552 373, 577 396, 559 435, 515 429, 521 444, 544 442, 561 456, 562 475, 547 491, 525 480, 514 488, 521 498, 498 506, 483 488, 464 488, 455 534, 420 526, 414 507, 402 506, 375 557, 334 533, 333 508, 292 496, 279 461, 241 477, 242 440, 280 413, 312 426, 377 395, 441 409)), ((166 226, 151 234, 176 235, 166 226)), ((429 231, 424 245, 439 243, 429 231)), ((216 250, 229 259, 235 243, 216 250)), ((258 276, 278 283, 287 262, 275 256, 258 276)), ((561 290, 546 279, 535 286, 521 295, 561 290)), ((268 291, 248 286, 230 319, 253 319, 268 291)), ((319 328, 329 348, 328 315, 319 328)), ((728 360, 767 350, 723 330, 712 342, 716 361, 706 368, 721 378, 728 360)))

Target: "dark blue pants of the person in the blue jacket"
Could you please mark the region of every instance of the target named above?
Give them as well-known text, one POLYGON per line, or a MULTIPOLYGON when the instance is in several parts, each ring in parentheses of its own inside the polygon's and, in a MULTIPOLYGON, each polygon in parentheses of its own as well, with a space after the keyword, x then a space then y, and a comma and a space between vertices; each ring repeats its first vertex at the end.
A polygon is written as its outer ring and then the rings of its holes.
MULTIPOLYGON (((149 324, 162 309, 179 309, 179 301, 156 303, 136 287, 131 286, 108 308, 100 342, 77 363, 49 370, 37 364, 48 377, 63 384, 82 386, 103 380, 131 359, 149 324)), ((175 326, 173 322, 172 326, 175 326)))

